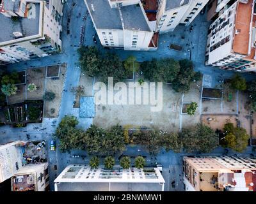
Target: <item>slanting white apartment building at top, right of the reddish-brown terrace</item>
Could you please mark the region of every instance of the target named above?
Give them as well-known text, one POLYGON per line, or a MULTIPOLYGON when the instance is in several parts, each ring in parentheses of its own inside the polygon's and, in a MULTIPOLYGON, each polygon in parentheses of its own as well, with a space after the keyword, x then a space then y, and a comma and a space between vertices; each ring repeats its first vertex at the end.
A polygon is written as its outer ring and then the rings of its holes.
POLYGON ((188 26, 209 0, 159 0, 157 27, 159 33, 173 31, 177 25, 188 26))

